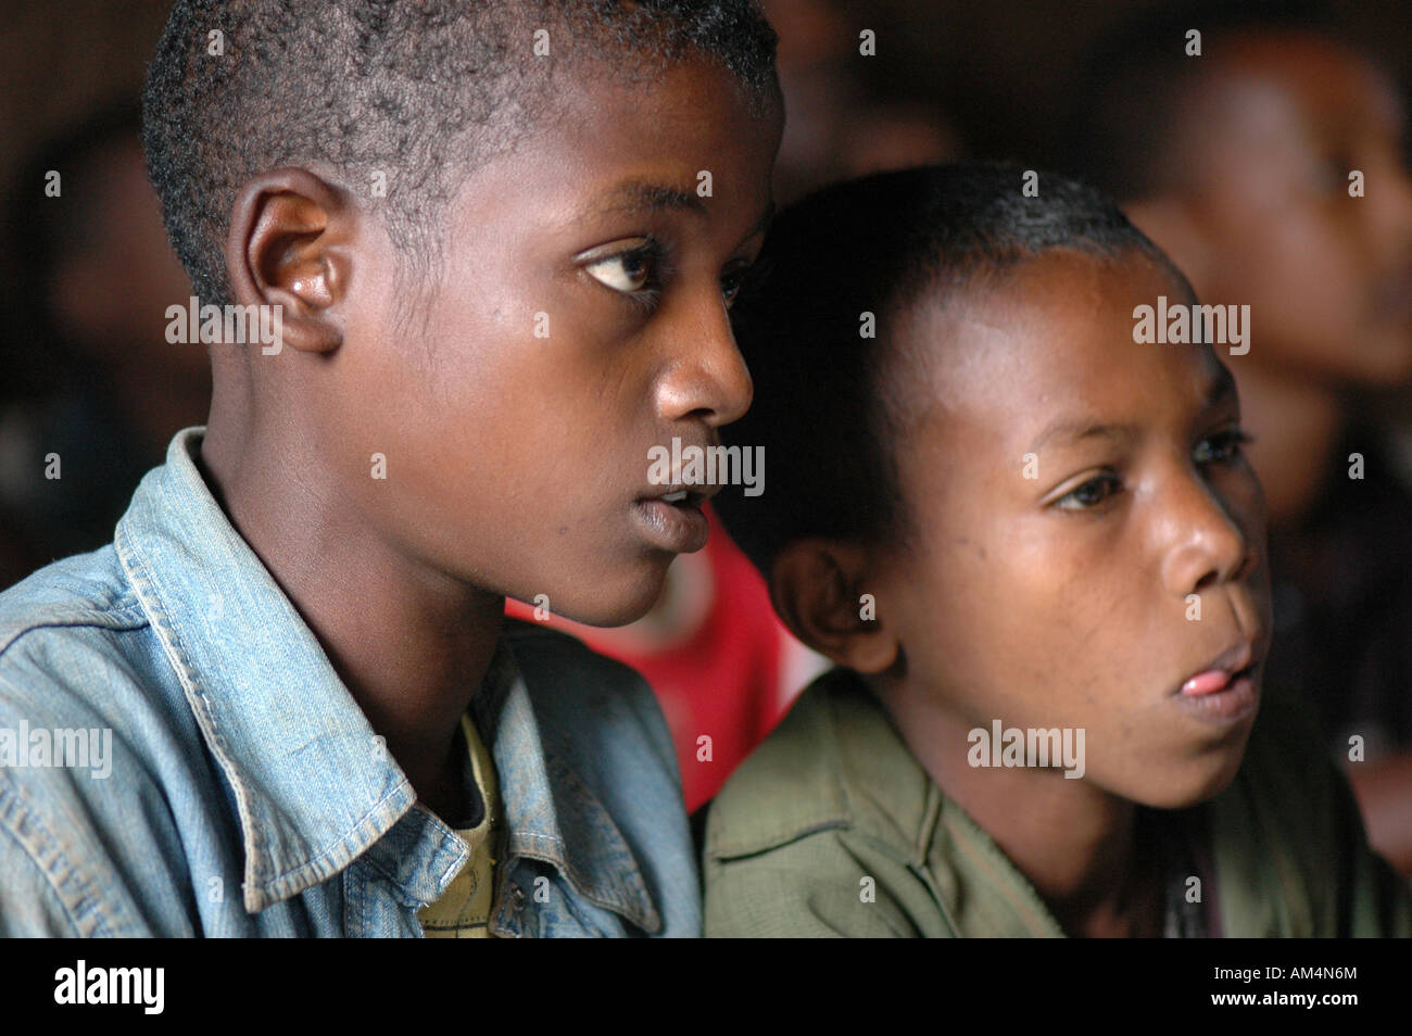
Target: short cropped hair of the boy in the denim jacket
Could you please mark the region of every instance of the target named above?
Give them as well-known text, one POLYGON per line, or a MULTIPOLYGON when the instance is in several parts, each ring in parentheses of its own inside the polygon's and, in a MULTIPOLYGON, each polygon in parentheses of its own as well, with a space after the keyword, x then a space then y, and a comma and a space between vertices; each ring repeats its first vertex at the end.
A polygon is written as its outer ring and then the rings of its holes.
POLYGON ((764 97, 775 42, 755 0, 176 0, 143 99, 148 172, 203 301, 230 301, 236 192, 281 165, 364 195, 381 172, 387 230, 425 268, 442 203, 548 121, 565 68, 650 78, 699 55, 764 97))

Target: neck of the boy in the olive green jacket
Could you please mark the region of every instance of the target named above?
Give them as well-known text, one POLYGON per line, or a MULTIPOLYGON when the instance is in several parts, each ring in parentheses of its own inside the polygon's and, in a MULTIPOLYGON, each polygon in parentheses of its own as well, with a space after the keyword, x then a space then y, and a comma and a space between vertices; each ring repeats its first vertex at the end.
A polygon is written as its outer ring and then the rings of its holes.
POLYGON ((1058 769, 973 768, 970 724, 925 692, 875 687, 912 755, 1029 879, 1072 936, 1161 934, 1159 861, 1139 853, 1137 806, 1058 769))

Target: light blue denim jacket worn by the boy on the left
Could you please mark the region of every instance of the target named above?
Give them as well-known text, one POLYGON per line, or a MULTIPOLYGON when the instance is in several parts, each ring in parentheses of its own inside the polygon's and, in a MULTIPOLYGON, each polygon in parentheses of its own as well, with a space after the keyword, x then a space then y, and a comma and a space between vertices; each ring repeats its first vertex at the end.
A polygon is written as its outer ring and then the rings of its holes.
MULTIPOLYGON (((0 934, 421 936, 466 844, 216 504, 203 430, 110 546, 0 594, 0 934)), ((640 676, 507 622, 472 716, 504 800, 494 934, 700 934, 640 676)))

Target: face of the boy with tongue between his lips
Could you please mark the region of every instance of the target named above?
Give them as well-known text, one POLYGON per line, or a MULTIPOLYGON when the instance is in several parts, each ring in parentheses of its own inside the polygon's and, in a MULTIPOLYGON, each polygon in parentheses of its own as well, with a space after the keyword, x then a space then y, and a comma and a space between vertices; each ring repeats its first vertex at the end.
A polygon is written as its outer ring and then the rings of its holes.
POLYGON ((1142 257, 1051 253, 905 318, 933 357, 902 375, 922 394, 898 447, 916 542, 877 601, 908 686, 963 727, 1082 727, 1084 779, 1178 807, 1240 764, 1269 598, 1224 367, 1132 340, 1158 295, 1182 291, 1142 257))

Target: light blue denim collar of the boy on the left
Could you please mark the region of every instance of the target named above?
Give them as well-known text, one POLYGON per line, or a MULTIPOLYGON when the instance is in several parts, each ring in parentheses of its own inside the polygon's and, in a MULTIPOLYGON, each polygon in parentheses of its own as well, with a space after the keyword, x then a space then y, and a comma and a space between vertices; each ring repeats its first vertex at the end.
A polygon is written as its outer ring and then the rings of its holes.
MULTIPOLYGON (((114 546, 233 790, 244 906, 263 910, 329 881, 408 813, 425 824, 394 838, 402 851, 390 878, 411 902, 431 902, 466 845, 412 810, 407 775, 212 497, 196 467, 203 435, 199 426, 176 433, 167 463, 133 495, 114 546)), ((621 831, 562 758, 545 757, 507 638, 472 713, 496 759, 510 855, 549 862, 585 898, 659 929, 621 831)))

